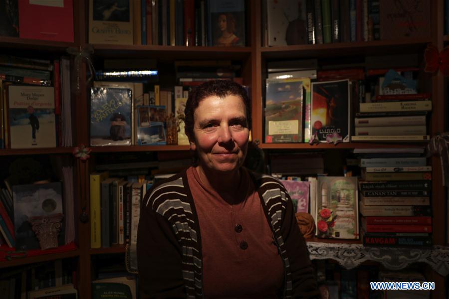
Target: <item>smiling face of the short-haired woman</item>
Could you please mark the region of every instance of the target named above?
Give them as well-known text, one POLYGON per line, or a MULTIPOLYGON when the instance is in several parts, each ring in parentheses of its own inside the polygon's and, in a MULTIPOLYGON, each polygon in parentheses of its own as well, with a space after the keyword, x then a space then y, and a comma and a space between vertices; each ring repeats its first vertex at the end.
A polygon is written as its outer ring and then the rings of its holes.
POLYGON ((204 172, 237 170, 246 156, 249 129, 243 100, 234 95, 202 100, 194 114, 191 147, 204 172))

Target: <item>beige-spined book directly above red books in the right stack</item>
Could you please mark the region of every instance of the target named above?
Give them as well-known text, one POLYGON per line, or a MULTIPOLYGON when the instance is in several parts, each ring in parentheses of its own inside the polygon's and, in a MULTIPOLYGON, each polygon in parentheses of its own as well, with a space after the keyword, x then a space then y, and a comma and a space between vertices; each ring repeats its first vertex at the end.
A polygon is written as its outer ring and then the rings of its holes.
POLYGON ((367 206, 360 203, 363 216, 431 216, 430 206, 367 206))

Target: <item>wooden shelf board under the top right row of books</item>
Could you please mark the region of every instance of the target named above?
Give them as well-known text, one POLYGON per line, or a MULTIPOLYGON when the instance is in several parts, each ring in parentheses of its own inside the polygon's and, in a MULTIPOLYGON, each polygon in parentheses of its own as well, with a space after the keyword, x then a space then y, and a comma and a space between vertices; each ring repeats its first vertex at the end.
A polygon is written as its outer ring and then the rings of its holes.
POLYGON ((262 58, 285 59, 307 57, 344 57, 354 55, 393 55, 419 53, 424 49, 430 39, 401 39, 401 40, 373 40, 346 43, 327 43, 316 45, 291 45, 262 47, 262 58))

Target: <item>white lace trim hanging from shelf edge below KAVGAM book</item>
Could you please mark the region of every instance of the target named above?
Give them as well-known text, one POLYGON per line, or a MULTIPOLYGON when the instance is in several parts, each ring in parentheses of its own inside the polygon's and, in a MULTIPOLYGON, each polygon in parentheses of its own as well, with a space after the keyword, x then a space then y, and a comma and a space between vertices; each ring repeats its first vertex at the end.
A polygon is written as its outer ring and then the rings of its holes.
POLYGON ((311 260, 336 260, 343 268, 352 269, 365 261, 382 263, 387 269, 401 270, 413 263, 426 263, 438 274, 449 274, 449 247, 389 248, 365 247, 361 244, 307 242, 311 260))

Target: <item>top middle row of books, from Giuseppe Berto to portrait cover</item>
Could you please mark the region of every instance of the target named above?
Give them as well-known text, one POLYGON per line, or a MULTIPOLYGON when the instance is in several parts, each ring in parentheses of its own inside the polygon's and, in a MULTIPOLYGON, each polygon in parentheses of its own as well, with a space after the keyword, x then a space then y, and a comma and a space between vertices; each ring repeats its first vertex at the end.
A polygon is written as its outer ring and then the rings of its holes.
POLYGON ((89 43, 244 46, 238 0, 89 1, 89 43))

